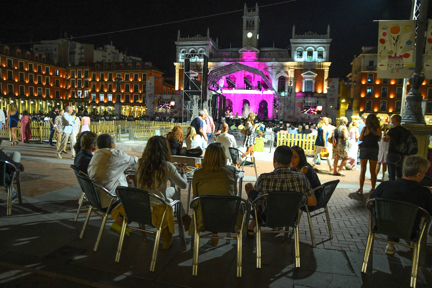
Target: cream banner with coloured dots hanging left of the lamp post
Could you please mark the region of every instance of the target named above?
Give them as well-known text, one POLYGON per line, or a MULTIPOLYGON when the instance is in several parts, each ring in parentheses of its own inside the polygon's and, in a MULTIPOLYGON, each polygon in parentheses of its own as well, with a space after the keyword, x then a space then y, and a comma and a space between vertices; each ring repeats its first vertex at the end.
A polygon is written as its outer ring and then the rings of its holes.
POLYGON ((414 73, 415 20, 380 21, 377 78, 410 78, 414 73))

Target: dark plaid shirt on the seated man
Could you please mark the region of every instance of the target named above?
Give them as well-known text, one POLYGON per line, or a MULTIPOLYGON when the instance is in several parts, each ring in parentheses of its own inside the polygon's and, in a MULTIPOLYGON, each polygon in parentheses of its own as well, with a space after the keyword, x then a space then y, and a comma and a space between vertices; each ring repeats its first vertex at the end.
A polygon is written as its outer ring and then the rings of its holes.
MULTIPOLYGON (((255 190, 261 194, 271 193, 272 191, 293 191, 304 193, 306 197, 314 195, 305 174, 291 171, 288 166, 278 167, 270 173, 261 174, 255 183, 255 190)), ((263 212, 265 206, 264 203, 263 212)))

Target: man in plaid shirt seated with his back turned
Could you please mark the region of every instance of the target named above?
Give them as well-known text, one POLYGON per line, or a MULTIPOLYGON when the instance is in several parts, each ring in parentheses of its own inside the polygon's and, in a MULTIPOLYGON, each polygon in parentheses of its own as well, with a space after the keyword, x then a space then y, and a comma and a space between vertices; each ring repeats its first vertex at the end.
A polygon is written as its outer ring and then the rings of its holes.
MULTIPOLYGON (((261 174, 255 186, 252 183, 245 185, 245 191, 248 198, 252 201, 262 194, 271 193, 272 191, 295 191, 303 193, 306 196, 306 205, 317 205, 317 199, 314 196, 311 184, 305 174, 289 170, 289 163, 292 160, 292 149, 289 146, 278 146, 273 156, 273 172, 261 174)), ((258 218, 265 220, 265 207, 262 215, 258 218)), ((248 226, 248 235, 254 235, 256 222, 254 220, 248 226)))

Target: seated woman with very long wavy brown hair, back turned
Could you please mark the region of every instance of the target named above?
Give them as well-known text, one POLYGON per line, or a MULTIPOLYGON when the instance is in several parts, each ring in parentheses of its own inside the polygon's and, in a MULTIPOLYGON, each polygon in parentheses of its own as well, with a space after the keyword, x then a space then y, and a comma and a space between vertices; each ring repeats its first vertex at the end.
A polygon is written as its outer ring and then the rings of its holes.
MULTIPOLYGON (((170 162, 171 149, 168 140, 162 136, 153 136, 147 142, 143 156, 137 162, 137 187, 155 193, 168 203, 173 200, 180 200, 174 187, 166 187, 168 178, 170 178, 178 187, 186 189, 187 179, 184 173, 186 163, 180 165, 180 174, 170 162)), ((150 200, 153 203, 159 204, 157 199, 150 200)), ((154 210, 154 209, 153 209, 154 210)), ((167 223, 162 224, 162 248, 168 249, 172 244, 172 234, 174 234, 174 211, 167 211, 170 215, 167 216, 167 223)), ((180 213, 185 230, 191 224, 191 217, 186 215, 183 206, 181 205, 180 213)))

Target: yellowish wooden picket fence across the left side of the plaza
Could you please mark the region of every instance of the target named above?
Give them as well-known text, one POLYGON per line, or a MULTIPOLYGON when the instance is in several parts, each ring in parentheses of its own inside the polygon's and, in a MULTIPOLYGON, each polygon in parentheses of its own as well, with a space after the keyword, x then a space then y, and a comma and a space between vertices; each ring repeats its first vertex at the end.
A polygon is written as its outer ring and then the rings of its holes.
MULTIPOLYGON (((99 121, 99 122, 90 122, 89 129, 90 131, 96 134, 110 133, 114 137, 115 127, 118 126, 126 126, 126 127, 134 127, 134 134, 142 138, 148 139, 149 135, 155 135, 155 129, 163 128, 163 136, 166 133, 172 130, 172 128, 178 125, 183 130, 183 134, 186 135, 187 127, 189 127, 189 123, 172 123, 172 122, 159 122, 159 121, 99 121), (135 128, 136 127, 136 128, 135 128)), ((16 136, 18 139, 21 139, 21 122, 18 122, 18 127, 15 130, 16 136)), ((48 122, 32 122, 30 123, 30 129, 32 131, 32 139, 38 140, 39 143, 42 141, 48 140, 50 136, 50 124, 48 122)), ((54 136, 55 137, 55 136, 54 136)), ((0 138, 10 138, 10 129, 6 129, 6 125, 0 129, 0 138)))

